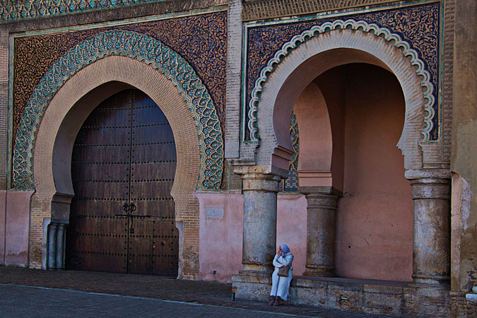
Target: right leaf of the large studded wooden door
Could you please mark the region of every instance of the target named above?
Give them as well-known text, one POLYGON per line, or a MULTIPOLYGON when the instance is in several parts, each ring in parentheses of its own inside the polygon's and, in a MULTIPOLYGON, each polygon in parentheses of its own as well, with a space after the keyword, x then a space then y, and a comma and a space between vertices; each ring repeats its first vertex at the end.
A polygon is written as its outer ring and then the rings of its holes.
POLYGON ((132 113, 131 202, 137 206, 136 214, 145 216, 138 218, 137 224, 148 228, 149 232, 148 235, 136 237, 134 242, 142 246, 140 250, 144 254, 141 254, 141 257, 134 256, 130 265, 136 268, 134 261, 142 263, 147 259, 148 264, 151 264, 149 273, 176 276, 178 234, 174 225, 174 201, 170 196, 176 168, 174 136, 160 108, 151 98, 139 91, 134 95, 132 113), (158 220, 165 218, 172 218, 172 222, 168 227, 158 229, 158 220), (169 252, 175 253, 175 258, 167 258, 163 252, 158 252, 161 242, 156 242, 153 233, 159 230, 175 235, 177 242, 171 245, 172 251, 169 252))

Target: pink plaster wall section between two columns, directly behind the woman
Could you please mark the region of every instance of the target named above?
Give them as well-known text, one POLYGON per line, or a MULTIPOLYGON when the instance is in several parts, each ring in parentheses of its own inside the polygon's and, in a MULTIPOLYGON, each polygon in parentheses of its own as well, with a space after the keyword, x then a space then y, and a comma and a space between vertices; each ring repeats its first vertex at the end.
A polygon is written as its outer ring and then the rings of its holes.
POLYGON ((302 194, 280 193, 276 204, 276 245, 290 247, 293 275, 300 276, 307 263, 307 199, 302 194))

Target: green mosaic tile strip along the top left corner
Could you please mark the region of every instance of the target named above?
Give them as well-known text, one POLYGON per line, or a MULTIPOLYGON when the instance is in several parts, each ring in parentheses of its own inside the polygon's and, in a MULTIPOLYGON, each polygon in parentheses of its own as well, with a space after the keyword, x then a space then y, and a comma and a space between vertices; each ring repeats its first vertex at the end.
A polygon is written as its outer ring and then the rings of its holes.
POLYGON ((160 1, 164 0, 0 0, 0 18, 1 20, 20 20, 58 16, 65 13, 160 1))

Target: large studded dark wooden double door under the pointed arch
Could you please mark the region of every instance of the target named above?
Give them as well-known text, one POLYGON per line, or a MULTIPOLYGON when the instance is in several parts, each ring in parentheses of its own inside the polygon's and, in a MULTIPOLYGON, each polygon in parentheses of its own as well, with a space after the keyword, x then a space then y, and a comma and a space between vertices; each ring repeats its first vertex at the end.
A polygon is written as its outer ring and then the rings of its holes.
POLYGON ((124 90, 102 102, 73 148, 66 268, 177 276, 175 168, 172 130, 151 98, 124 90))

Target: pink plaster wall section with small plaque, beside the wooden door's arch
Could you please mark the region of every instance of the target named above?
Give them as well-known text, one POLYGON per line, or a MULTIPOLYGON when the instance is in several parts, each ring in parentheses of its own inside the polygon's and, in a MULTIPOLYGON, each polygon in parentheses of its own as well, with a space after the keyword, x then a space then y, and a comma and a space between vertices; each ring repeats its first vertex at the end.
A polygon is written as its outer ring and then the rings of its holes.
POLYGON ((197 193, 196 197, 199 199, 199 278, 230 282, 232 275, 242 270, 243 196, 197 193), (223 218, 207 218, 207 206, 222 206, 223 218))

